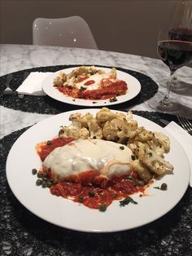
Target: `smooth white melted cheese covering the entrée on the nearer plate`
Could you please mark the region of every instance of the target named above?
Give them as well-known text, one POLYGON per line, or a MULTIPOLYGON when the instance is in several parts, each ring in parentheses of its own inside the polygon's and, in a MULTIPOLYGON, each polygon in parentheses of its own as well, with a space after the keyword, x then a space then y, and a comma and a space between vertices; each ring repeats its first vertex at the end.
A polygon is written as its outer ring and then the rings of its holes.
POLYGON ((103 139, 75 140, 50 152, 43 166, 61 179, 87 170, 99 170, 110 179, 114 175, 129 174, 131 155, 131 150, 120 143, 103 139))

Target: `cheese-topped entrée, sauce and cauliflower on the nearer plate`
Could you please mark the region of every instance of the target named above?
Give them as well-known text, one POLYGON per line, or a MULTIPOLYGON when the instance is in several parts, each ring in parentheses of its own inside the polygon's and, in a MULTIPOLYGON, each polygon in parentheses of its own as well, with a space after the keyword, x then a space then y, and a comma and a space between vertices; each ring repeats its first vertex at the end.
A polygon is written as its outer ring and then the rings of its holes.
POLYGON ((164 159, 168 136, 138 126, 131 112, 101 108, 95 117, 74 113, 69 120, 59 137, 37 144, 37 185, 56 196, 104 211, 114 200, 133 202, 130 195, 144 194, 155 177, 173 170, 164 159))

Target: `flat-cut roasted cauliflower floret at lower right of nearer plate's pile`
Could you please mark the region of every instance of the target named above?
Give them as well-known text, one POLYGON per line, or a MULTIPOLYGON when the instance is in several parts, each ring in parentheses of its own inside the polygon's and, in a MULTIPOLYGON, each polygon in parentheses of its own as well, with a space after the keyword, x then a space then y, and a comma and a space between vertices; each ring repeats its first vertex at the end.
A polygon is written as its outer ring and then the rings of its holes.
POLYGON ((138 159, 157 175, 173 170, 173 166, 168 161, 159 157, 155 151, 147 148, 143 143, 139 144, 138 159))

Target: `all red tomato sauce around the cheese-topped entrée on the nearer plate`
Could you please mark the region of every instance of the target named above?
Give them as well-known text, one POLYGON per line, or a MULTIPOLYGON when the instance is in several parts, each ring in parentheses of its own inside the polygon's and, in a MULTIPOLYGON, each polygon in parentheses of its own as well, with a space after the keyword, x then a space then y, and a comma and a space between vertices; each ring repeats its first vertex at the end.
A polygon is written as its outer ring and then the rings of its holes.
MULTIPOLYGON (((50 140, 47 144, 39 143, 37 153, 44 161, 46 156, 55 148, 72 142, 73 138, 57 138, 50 140)), ((41 174, 51 180, 55 179, 50 170, 42 169, 41 174)), ((100 176, 98 170, 88 170, 84 173, 68 177, 65 180, 59 180, 50 187, 51 194, 55 196, 63 196, 75 202, 81 202, 83 205, 99 209, 101 205, 111 205, 112 201, 121 200, 136 192, 145 191, 145 187, 138 185, 138 176, 136 172, 121 177, 113 177, 107 180, 100 176)))

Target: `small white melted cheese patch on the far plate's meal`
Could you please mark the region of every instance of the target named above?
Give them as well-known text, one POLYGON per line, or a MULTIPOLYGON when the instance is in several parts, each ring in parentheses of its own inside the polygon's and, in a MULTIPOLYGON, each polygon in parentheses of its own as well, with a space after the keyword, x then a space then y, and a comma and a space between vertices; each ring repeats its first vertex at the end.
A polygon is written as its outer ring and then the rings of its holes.
POLYGON ((85 79, 84 81, 77 82, 76 87, 78 89, 80 89, 81 87, 85 87, 86 90, 96 90, 96 89, 98 89, 102 79, 108 78, 108 77, 109 77, 109 73, 102 73, 102 74, 95 73, 94 75, 90 76, 89 78, 85 79), (94 83, 89 86, 85 86, 85 82, 88 82, 90 80, 94 80, 94 83))

